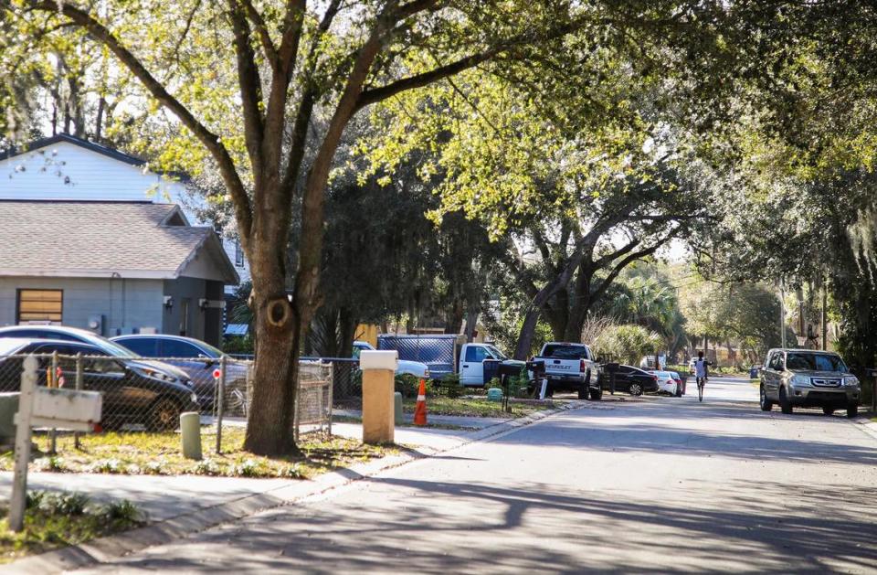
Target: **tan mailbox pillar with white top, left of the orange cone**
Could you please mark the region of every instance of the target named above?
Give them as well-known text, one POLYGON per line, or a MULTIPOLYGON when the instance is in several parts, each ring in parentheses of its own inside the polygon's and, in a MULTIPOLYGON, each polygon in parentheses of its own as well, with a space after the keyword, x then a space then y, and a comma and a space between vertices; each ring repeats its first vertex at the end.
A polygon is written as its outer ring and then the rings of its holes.
POLYGON ((359 355, 363 370, 363 442, 392 443, 396 435, 393 402, 399 352, 364 350, 359 355))

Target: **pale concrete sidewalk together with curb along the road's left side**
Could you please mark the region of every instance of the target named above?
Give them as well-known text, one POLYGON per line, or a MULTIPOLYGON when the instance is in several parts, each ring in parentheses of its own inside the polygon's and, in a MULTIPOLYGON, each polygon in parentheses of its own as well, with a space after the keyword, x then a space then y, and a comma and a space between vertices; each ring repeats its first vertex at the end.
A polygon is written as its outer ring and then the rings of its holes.
MULTIPOLYGON (((319 495, 383 470, 512 431, 556 413, 585 407, 591 406, 586 406, 584 401, 571 401, 557 410, 536 412, 474 431, 396 428, 396 443, 405 448, 400 453, 337 469, 312 480, 200 475, 28 474, 28 487, 31 489, 79 491, 99 501, 128 499, 147 514, 149 524, 115 536, 19 559, 3 566, 3 572, 48 574, 106 562, 143 548, 188 537, 209 527, 252 516, 265 509, 319 495)), ((333 433, 361 438, 362 426, 357 423, 335 423, 333 433)), ((11 481, 11 473, 0 473, 0 485, 5 487, 0 495, 3 498, 8 498, 10 494, 11 481)))

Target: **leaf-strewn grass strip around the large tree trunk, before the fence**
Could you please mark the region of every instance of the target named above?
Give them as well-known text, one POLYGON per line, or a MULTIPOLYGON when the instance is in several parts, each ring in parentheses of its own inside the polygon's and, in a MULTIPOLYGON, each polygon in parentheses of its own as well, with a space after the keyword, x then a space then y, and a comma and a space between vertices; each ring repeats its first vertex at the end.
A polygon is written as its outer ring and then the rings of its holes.
MULTIPOLYGON (((58 438, 58 454, 49 456, 48 437, 35 435, 40 453, 30 464, 32 471, 97 474, 221 475, 227 477, 288 477, 307 479, 350 463, 381 457, 393 448, 364 445, 361 442, 317 434, 302 435, 301 457, 262 457, 244 452, 243 428, 222 432, 222 454, 214 453, 215 428, 202 428, 201 451, 204 459, 185 459, 178 433, 118 432, 85 435, 81 449, 72 436, 58 438)), ((0 470, 11 471, 13 453, 0 455, 0 470)))

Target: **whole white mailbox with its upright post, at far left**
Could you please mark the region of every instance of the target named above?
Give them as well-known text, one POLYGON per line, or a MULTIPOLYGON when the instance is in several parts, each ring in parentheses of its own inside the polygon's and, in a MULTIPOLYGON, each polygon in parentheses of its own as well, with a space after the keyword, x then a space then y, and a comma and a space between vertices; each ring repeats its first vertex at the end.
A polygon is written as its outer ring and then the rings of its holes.
POLYGON ((24 527, 32 428, 92 431, 100 422, 101 410, 101 396, 97 391, 37 387, 37 358, 26 357, 24 367, 15 417, 16 467, 9 502, 9 528, 13 531, 24 527))

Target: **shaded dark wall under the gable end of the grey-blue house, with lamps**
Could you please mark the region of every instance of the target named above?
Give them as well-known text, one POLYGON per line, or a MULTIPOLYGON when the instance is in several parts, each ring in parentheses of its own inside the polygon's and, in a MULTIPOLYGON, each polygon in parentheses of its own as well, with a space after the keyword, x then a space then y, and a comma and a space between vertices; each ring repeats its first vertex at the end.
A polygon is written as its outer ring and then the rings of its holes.
POLYGON ((164 310, 162 333, 195 337, 214 346, 219 344, 222 337, 222 310, 201 310, 198 300, 222 300, 222 282, 185 277, 166 280, 164 296, 173 298, 174 304, 170 310, 164 310))

